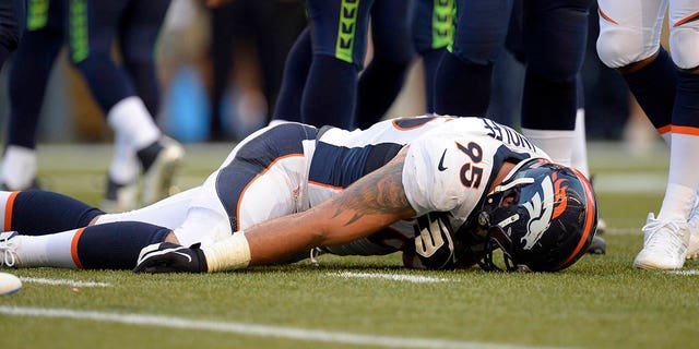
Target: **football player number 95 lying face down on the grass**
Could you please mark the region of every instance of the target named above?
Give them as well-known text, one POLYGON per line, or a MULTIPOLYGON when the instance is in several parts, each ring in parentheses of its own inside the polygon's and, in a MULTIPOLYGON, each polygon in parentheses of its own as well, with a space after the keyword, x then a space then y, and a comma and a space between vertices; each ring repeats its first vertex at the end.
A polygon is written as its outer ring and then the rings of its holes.
POLYGON ((0 236, 4 265, 152 273, 294 262, 310 251, 554 272, 587 252, 597 218, 577 170, 512 129, 452 117, 364 131, 269 127, 201 186, 133 212, 104 214, 42 191, 0 192, 0 207, 13 231, 0 236), (497 249, 505 264, 494 263, 497 249))

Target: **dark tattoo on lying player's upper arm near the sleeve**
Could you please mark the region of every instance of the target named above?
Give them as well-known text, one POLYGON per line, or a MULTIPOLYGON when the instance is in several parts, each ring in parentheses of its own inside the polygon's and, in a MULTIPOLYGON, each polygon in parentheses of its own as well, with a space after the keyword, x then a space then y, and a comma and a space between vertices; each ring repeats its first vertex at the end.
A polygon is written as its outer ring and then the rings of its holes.
POLYGON ((333 198, 333 217, 352 212, 348 226, 365 216, 406 213, 412 209, 402 181, 403 161, 391 161, 348 186, 333 198))

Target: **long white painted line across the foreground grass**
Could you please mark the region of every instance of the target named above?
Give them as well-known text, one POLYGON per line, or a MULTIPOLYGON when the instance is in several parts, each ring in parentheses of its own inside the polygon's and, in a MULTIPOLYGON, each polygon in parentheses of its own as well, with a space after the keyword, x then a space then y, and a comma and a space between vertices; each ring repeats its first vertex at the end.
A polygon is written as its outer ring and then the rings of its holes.
POLYGON ((305 329, 295 327, 266 326, 246 323, 193 320, 187 317, 120 314, 97 311, 75 311, 70 309, 44 309, 31 306, 0 306, 0 314, 14 316, 60 317, 84 321, 99 321, 128 325, 146 325, 169 328, 186 328, 230 333, 246 336, 276 337, 296 340, 322 341, 353 346, 372 346, 387 348, 485 348, 485 349, 528 349, 516 345, 498 345, 479 341, 460 341, 439 338, 406 338, 390 336, 360 335, 346 332, 330 332, 321 329, 305 329))

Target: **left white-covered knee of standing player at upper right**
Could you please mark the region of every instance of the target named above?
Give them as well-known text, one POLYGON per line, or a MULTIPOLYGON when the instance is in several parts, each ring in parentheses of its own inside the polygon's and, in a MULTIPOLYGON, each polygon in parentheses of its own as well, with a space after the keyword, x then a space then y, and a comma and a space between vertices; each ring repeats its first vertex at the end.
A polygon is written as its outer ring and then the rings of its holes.
POLYGON ((612 24, 600 26, 597 56, 609 68, 621 68, 641 61, 659 49, 659 40, 651 40, 640 31, 612 24))

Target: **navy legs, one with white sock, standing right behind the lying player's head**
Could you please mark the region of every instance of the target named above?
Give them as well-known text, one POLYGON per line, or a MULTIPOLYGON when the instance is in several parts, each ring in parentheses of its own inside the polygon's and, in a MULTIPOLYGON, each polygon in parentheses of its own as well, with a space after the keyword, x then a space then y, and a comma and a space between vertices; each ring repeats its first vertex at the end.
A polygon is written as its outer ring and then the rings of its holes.
POLYGON ((522 132, 557 163, 570 165, 589 4, 589 0, 458 0, 453 44, 436 76, 435 111, 485 115, 493 68, 505 47, 511 15, 521 16, 526 62, 522 132))

